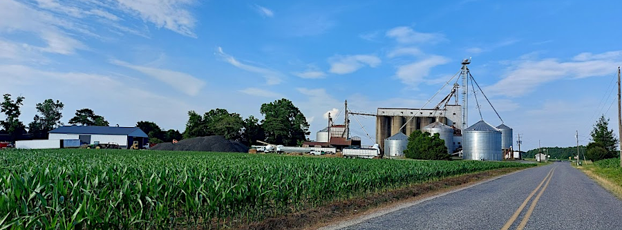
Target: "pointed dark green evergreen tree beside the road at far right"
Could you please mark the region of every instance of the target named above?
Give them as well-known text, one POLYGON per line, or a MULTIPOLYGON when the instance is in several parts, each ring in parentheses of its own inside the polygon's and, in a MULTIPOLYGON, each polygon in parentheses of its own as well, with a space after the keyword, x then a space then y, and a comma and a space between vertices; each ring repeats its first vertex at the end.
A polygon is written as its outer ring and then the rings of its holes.
POLYGON ((585 153, 587 159, 594 162, 617 157, 618 138, 614 135, 613 129, 609 129, 609 119, 606 119, 605 115, 601 115, 596 121, 590 135, 592 135, 592 142, 587 144, 585 153))

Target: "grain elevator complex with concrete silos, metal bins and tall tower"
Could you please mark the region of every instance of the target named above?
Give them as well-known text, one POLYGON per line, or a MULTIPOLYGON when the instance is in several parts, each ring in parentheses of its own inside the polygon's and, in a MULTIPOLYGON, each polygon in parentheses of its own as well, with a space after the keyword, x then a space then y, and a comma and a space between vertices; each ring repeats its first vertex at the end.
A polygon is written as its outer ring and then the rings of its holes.
MULTIPOLYGON (((448 153, 453 156, 460 156, 465 160, 498 161, 503 160, 505 157, 516 157, 511 154, 513 153, 512 128, 503 124, 499 113, 497 113, 482 88, 480 88, 471 75, 467 67, 469 64, 471 64, 470 59, 462 61, 460 77, 455 80, 451 93, 446 95, 433 108, 377 108, 376 113, 354 113, 348 111, 346 103, 346 117, 348 115, 375 116, 375 143, 379 144, 379 149, 383 151, 384 157, 404 156, 404 149, 408 145, 408 136, 415 130, 431 133, 432 135, 438 133, 440 139, 444 140, 448 153), (458 84, 460 79, 462 79, 462 85, 458 84), (469 92, 469 88, 471 88, 471 92, 469 92), (478 111, 481 108, 480 102, 484 102, 482 99, 485 99, 501 120, 501 124, 492 126, 485 122, 481 111, 479 111, 480 120, 469 126, 468 109, 469 97, 471 96, 475 99, 478 111)), ((446 82, 445 86, 453 82, 453 79, 452 77, 452 79, 446 82)), ((442 89, 440 92, 442 92, 442 89)), ((431 101, 432 99, 428 100, 428 102, 431 101)), ((423 107, 426 107, 426 105, 423 107)), ((318 142, 330 144, 327 141, 327 129, 318 132, 318 142)), ((348 140, 348 118, 346 118, 346 124, 344 124, 342 129, 346 131, 346 134, 340 137, 345 137, 344 139, 348 140)), ((342 134, 342 132, 339 133, 342 134)), ((520 158, 520 155, 517 158, 520 158)))

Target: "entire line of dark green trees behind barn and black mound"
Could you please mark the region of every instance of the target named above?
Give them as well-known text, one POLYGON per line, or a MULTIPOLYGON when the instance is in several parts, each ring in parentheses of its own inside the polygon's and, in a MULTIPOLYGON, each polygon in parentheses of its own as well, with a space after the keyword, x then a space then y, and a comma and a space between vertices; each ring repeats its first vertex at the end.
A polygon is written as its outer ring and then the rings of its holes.
MULTIPOLYGON (((12 99, 10 94, 5 94, 3 97, 0 109, 6 117, 0 121, 2 127, 0 132, 8 134, 10 141, 19 139, 25 133, 30 133, 32 139, 46 139, 49 131, 64 125, 60 121, 63 117, 64 104, 58 100, 46 99, 38 103, 35 106, 38 114, 26 126, 19 120, 24 97, 12 99)), ((140 121, 136 126, 149 135, 151 143, 222 135, 228 140, 247 145, 264 141, 294 146, 307 140, 306 136, 310 134, 306 117, 289 99, 283 98, 262 104, 260 113, 264 117, 261 121, 252 115, 243 119, 238 113, 229 113, 223 108, 212 109, 203 115, 196 111, 189 111, 183 133, 174 129, 164 130, 155 122, 149 121, 140 121)), ((68 123, 84 126, 109 126, 109 122, 102 115, 95 114, 90 108, 77 110, 68 123)))

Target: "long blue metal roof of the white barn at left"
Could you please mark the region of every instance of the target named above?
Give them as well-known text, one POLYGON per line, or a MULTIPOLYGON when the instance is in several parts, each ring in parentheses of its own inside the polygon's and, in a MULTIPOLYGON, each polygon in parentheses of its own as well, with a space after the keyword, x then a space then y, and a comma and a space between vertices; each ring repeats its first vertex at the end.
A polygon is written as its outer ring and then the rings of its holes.
POLYGON ((65 134, 99 134, 99 135, 127 135, 130 137, 149 137, 138 127, 111 127, 111 126, 60 126, 48 133, 65 134))

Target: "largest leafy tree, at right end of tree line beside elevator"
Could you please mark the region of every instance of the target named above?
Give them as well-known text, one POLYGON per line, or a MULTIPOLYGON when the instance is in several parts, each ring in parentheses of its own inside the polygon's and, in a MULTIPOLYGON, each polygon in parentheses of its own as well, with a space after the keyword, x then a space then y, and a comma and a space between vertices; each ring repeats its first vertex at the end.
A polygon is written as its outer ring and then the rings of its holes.
POLYGON ((288 99, 262 104, 260 112, 265 140, 271 144, 295 146, 310 134, 305 115, 288 99))

